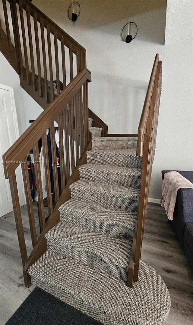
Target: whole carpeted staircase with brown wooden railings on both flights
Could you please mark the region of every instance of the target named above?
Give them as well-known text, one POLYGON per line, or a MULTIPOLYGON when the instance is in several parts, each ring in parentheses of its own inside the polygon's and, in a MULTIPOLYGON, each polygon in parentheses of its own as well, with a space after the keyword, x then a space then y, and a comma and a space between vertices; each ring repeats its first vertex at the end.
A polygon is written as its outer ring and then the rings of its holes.
MULTIPOLYGON (((140 258, 161 94, 159 56, 156 55, 153 64, 137 133, 108 135, 107 125, 88 108, 91 73, 86 68, 85 49, 27 0, 2 0, 2 3, 6 29, 4 31, 0 26, 0 50, 19 73, 21 86, 45 109, 3 156, 5 177, 9 178, 11 188, 25 285, 29 287, 33 283, 105 324, 139 324, 137 318, 135 321, 130 318, 130 310, 134 308, 132 302, 135 300, 138 314, 143 305, 147 306, 146 318, 142 323, 150 324, 148 317, 161 302, 156 302, 153 307, 148 306, 145 295, 141 294, 142 288, 145 292, 148 287, 147 296, 154 289, 150 281, 153 271, 140 262, 140 258), (14 44, 11 43, 7 6, 10 6, 14 26, 14 44), (25 17, 28 30, 24 26, 25 17), (32 17, 37 71, 33 59, 32 17), (41 30, 43 61, 40 59, 37 26, 41 30), (45 33, 48 58, 45 55, 45 33), (31 63, 28 60, 26 35, 29 38, 31 63), (51 55, 52 37, 56 84, 51 55), (61 67, 58 43, 61 46, 61 67), (68 84, 66 48, 70 56, 68 84), (74 55, 76 60, 73 60, 74 55), (58 123, 61 191, 58 187, 54 121, 58 123), (48 128, 55 207, 52 205, 49 175, 48 128), (46 224, 38 153, 40 138, 50 216, 46 224), (32 148, 37 162, 39 238, 35 229, 26 166, 26 155, 32 148), (14 164, 10 164, 10 161, 14 164), (32 236, 30 256, 27 255, 15 175, 19 165, 23 173, 32 236), (137 283, 133 285, 133 282, 137 283)), ((159 281, 158 288, 164 291, 164 284, 159 281)), ((161 320, 157 319, 152 324, 155 323, 161 324, 161 320)))

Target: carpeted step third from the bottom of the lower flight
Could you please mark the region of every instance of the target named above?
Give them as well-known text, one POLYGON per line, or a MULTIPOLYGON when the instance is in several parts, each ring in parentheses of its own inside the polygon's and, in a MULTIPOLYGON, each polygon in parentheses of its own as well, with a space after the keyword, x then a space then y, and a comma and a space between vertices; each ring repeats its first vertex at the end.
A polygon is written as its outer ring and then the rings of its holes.
POLYGON ((69 200, 59 207, 60 221, 72 226, 114 236, 122 240, 133 239, 136 213, 103 207, 78 200, 69 200))

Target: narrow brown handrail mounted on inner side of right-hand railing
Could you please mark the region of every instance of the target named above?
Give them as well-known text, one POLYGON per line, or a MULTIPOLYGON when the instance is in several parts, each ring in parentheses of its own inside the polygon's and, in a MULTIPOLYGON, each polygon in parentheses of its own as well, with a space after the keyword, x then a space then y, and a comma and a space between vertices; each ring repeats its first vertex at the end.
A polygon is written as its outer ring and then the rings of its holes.
POLYGON ((150 79, 149 79, 148 90, 147 90, 147 93, 146 93, 146 98, 145 98, 145 101, 144 101, 143 110, 142 110, 142 113, 141 113, 141 118, 140 118, 140 121, 139 121, 139 127, 138 127, 138 131, 137 131, 138 132, 137 151, 136 151, 137 156, 142 156, 142 154, 143 154, 143 138, 144 138, 144 134, 145 134, 145 130, 146 130, 148 111, 149 111, 149 103, 150 103, 151 96, 152 96, 152 91, 153 91, 153 86, 154 86, 154 80, 155 80, 155 75, 156 75, 156 71, 157 71, 158 61, 159 61, 159 54, 156 54, 154 64, 153 64, 153 68, 152 68, 152 72, 151 72, 151 76, 150 76, 150 79))

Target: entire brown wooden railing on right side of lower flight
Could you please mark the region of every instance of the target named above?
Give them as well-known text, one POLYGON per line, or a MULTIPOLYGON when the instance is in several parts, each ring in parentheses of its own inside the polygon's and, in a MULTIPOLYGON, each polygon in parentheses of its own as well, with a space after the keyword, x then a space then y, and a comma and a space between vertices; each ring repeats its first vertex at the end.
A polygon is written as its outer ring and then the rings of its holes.
POLYGON ((151 72, 148 90, 138 127, 136 155, 143 156, 143 158, 138 217, 135 226, 135 234, 128 268, 127 285, 129 287, 132 287, 133 281, 137 282, 138 280, 142 240, 147 212, 146 210, 149 194, 150 177, 155 154, 160 95, 161 61, 159 61, 159 55, 157 54, 153 64, 153 69, 151 72))

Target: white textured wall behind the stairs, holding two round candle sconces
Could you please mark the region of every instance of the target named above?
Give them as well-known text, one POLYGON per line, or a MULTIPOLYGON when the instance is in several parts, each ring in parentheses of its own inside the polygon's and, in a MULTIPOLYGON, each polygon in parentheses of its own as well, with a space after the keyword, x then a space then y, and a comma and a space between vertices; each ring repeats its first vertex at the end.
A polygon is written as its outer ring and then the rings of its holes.
POLYGON ((59 9, 51 1, 33 1, 86 48, 87 67, 92 72, 89 107, 108 124, 109 133, 136 133, 153 60, 156 53, 160 54, 162 92, 149 194, 157 200, 161 197, 162 169, 193 170, 192 40, 180 36, 176 43, 171 29, 173 25, 176 27, 175 21, 180 21, 179 16, 184 19, 190 16, 190 8, 185 0, 177 2, 175 6, 173 0, 168 1, 167 21, 166 7, 130 17, 138 26, 138 34, 126 44, 121 41, 120 32, 127 19, 120 20, 118 14, 116 19, 118 6, 113 7, 114 11, 112 7, 109 9, 107 19, 102 12, 100 14, 98 6, 92 23, 92 12, 88 15, 90 20, 85 18, 89 9, 84 1, 80 2, 82 16, 72 23, 66 17, 70 1, 59 9), (114 18, 108 23, 110 15, 114 18), (165 21, 167 42, 173 43, 164 46, 165 21))

